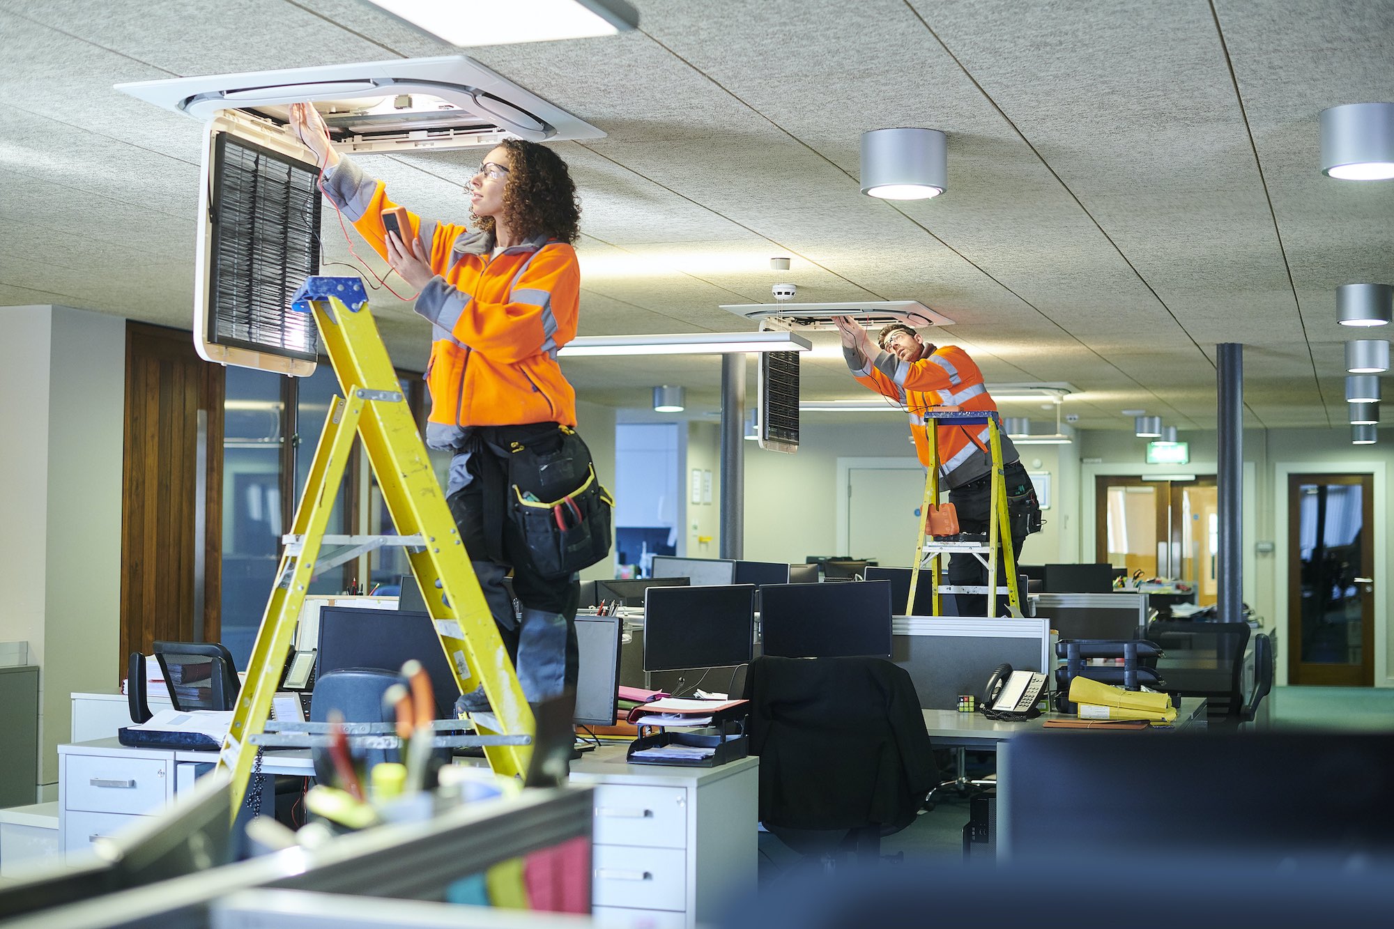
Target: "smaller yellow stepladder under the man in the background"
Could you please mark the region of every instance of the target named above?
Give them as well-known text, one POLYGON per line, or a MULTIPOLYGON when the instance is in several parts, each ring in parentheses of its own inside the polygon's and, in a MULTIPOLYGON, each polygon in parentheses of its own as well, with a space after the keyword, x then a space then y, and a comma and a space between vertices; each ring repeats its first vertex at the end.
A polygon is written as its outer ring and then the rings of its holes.
POLYGON ((920 569, 930 572, 931 590, 934 593, 934 615, 940 615, 941 593, 986 594, 987 615, 997 615, 997 594, 1006 594, 1008 611, 1013 617, 1022 615, 1020 596, 1016 590, 1016 552, 1012 551, 1011 518, 1006 512, 1006 476, 1002 470, 1002 439, 997 413, 993 410, 962 411, 958 409, 930 407, 924 414, 924 431, 930 442, 930 470, 924 476, 924 502, 920 506, 920 530, 914 544, 914 562, 910 569, 910 601, 906 604, 906 615, 914 612, 914 590, 920 580, 920 569), (987 544, 979 541, 937 541, 933 537, 926 540, 924 526, 928 522, 930 506, 940 499, 940 431, 938 423, 952 423, 955 425, 987 424, 988 451, 993 458, 991 505, 987 520, 987 544), (997 541, 1002 540, 1002 568, 1006 571, 1005 584, 997 586, 997 541), (941 555, 970 554, 987 568, 987 586, 981 584, 940 584, 940 572, 944 569, 941 555), (995 591, 995 593, 988 593, 995 591))

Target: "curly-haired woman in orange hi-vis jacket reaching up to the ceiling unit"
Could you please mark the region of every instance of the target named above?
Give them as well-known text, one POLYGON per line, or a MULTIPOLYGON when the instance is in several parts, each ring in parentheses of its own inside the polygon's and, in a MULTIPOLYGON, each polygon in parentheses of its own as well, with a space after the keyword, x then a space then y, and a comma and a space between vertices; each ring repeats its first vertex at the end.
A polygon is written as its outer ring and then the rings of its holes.
MULTIPOLYGON (((524 697, 535 707, 562 696, 576 685, 576 571, 609 547, 608 501, 556 363, 580 304, 580 206, 566 163, 544 145, 496 145, 464 187, 470 230, 389 201, 335 152, 311 105, 291 106, 291 128, 323 169, 329 201, 418 292, 415 311, 432 328, 425 441, 454 456, 450 515, 524 697), (503 586, 510 568, 521 617, 503 586)), ((482 688, 460 709, 488 711, 482 688)))

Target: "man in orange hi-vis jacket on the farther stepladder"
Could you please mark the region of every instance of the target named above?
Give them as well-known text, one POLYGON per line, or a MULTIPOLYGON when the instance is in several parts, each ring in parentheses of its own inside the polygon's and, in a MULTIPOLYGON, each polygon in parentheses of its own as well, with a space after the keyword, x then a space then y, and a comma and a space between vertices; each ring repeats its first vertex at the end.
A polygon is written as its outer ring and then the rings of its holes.
MULTIPOLYGON (((930 466, 931 420, 926 420, 930 407, 956 406, 969 413, 997 410, 997 403, 983 385, 981 371, 963 349, 952 345, 937 347, 903 322, 892 322, 881 329, 877 336, 880 347, 875 347, 867 331, 852 317, 835 317, 834 324, 842 336, 842 356, 852 377, 895 400, 910 414, 910 437, 920 463, 926 467, 930 466)), ((1020 558, 1027 524, 1039 524, 1040 505, 1016 446, 1005 432, 999 432, 999 438, 1012 552, 1013 558, 1020 558)), ((993 513, 993 456, 988 451, 987 425, 940 423, 938 452, 941 487, 949 491, 948 502, 958 511, 959 529, 986 537, 993 513)), ((949 559, 948 583, 984 586, 987 568, 969 552, 955 554, 949 559)), ((955 601, 962 617, 988 615, 986 596, 955 594, 955 601)))

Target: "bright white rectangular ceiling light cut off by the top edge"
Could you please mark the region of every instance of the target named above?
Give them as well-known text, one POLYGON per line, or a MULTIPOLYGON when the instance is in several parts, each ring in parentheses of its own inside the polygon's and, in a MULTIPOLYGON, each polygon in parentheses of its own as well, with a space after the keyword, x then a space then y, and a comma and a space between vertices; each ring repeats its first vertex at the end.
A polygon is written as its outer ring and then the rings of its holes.
POLYGON ((638 25, 625 0, 368 0, 450 45, 512 45, 615 35, 638 25))

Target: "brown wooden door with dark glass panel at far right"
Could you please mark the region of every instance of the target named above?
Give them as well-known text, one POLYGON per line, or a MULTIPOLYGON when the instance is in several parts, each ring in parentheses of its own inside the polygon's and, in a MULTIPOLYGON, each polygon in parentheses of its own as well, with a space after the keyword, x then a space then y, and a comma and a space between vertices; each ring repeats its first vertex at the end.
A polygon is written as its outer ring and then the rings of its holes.
POLYGON ((1374 487, 1288 477, 1288 683, 1374 683, 1374 487))

